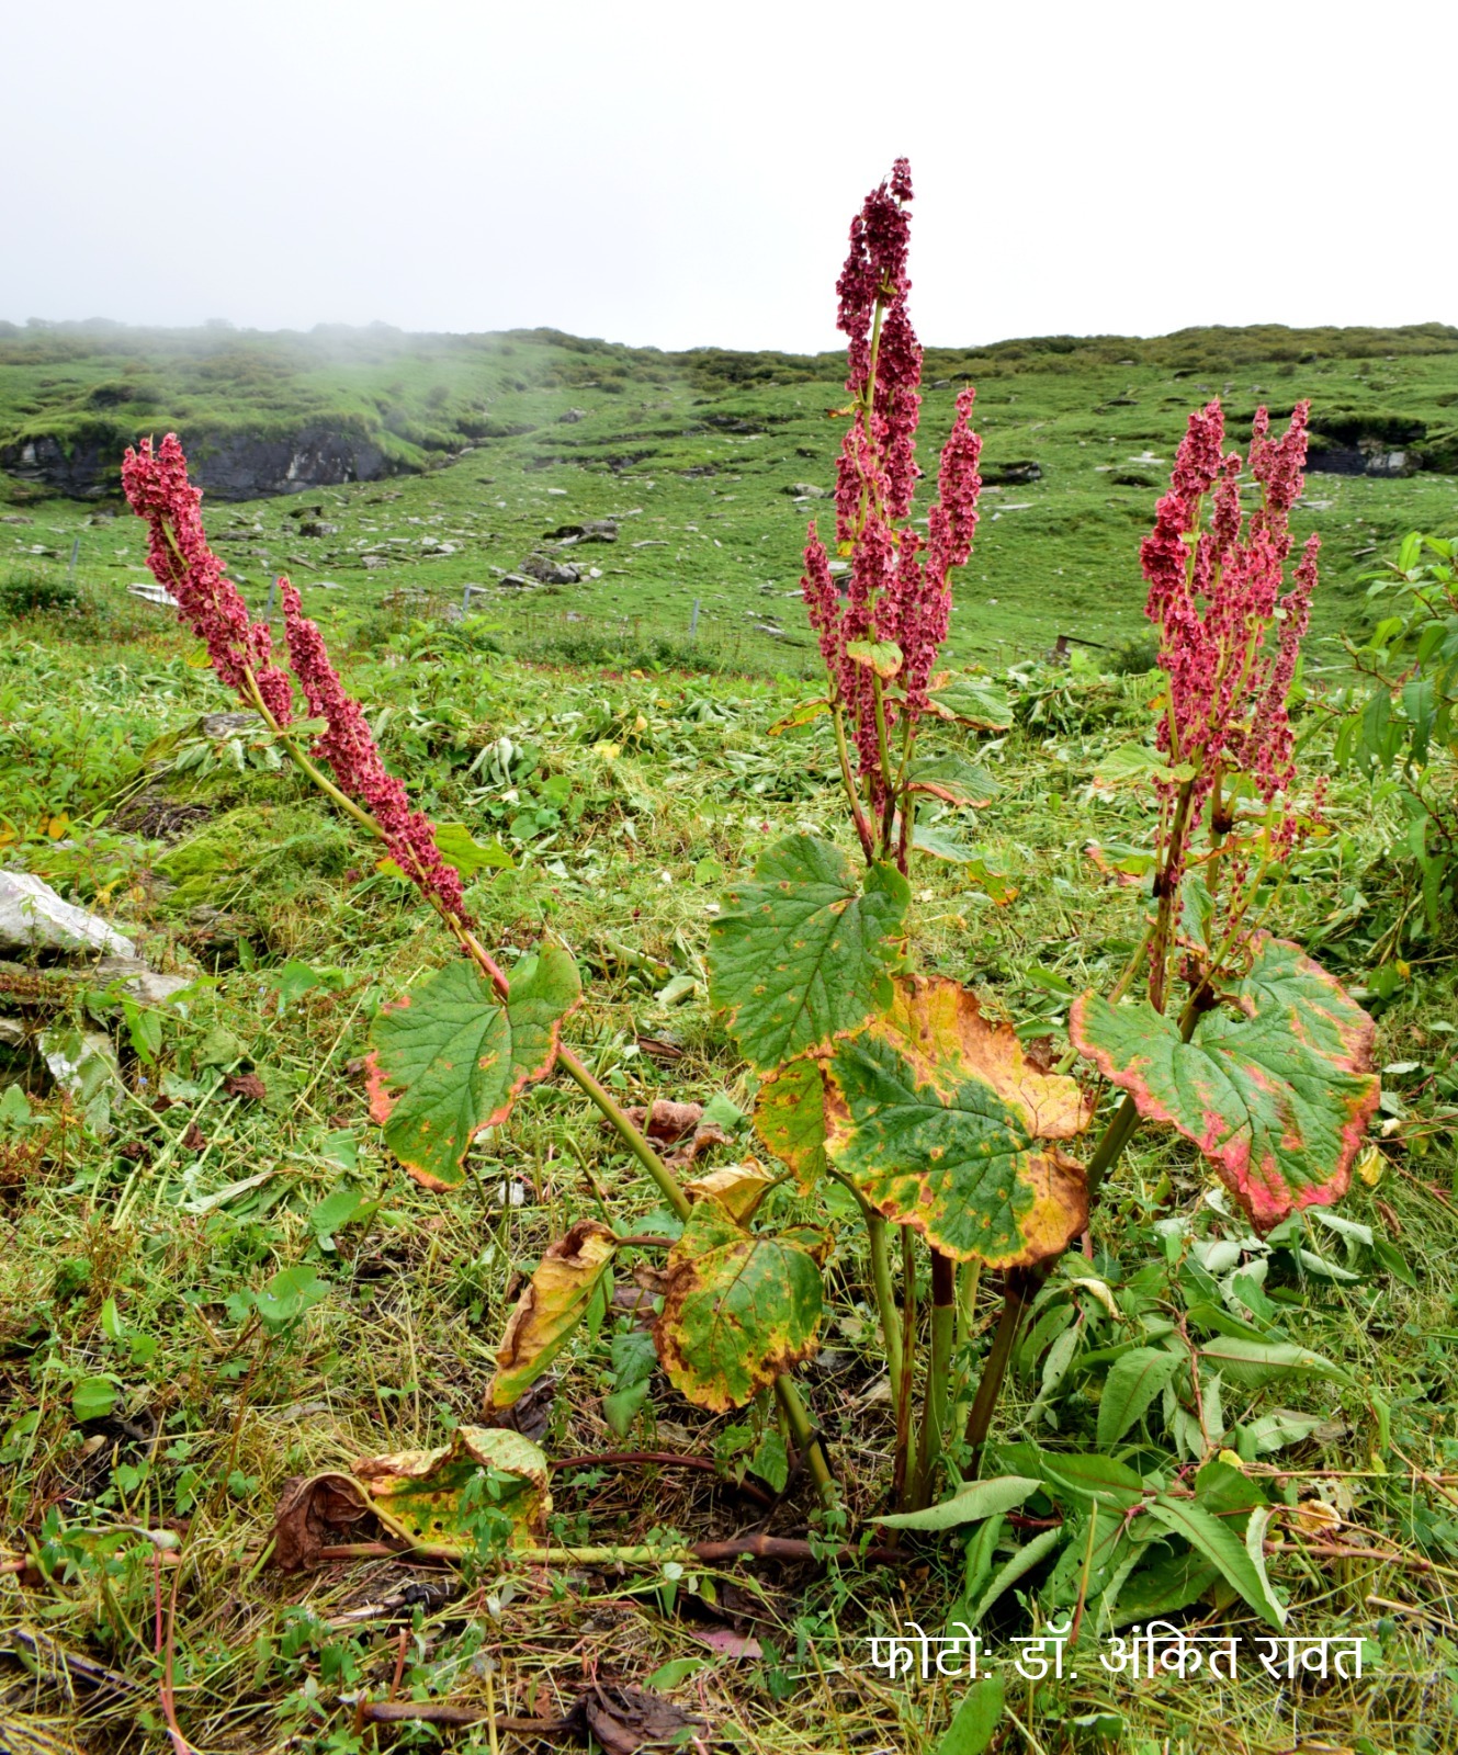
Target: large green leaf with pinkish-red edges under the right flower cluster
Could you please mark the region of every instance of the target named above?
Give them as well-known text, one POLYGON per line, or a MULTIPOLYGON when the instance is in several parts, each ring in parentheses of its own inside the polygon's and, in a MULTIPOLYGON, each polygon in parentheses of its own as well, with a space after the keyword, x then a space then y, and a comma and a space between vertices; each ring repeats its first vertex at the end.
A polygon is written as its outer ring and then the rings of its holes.
POLYGON ((1346 1193, 1377 1107, 1374 1023, 1300 946, 1258 934, 1235 1009, 1209 1011, 1188 1042, 1140 1000, 1074 1000, 1079 1051, 1139 1113, 1169 1121, 1214 1164, 1258 1230, 1346 1193))

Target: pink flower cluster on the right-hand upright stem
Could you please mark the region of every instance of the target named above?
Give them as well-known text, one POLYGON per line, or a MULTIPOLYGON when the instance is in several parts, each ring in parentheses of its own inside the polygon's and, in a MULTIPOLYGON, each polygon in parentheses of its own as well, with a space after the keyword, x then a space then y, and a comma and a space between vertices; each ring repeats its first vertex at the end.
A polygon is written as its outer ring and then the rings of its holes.
POLYGON ((1311 620, 1321 548, 1319 537, 1307 539, 1283 591, 1288 519, 1304 481, 1307 409, 1297 404, 1279 439, 1270 437, 1267 411, 1256 412, 1249 474, 1261 498, 1247 519, 1240 455, 1223 455, 1219 400, 1191 414, 1170 491, 1140 548, 1146 614, 1160 628, 1160 665, 1169 674, 1160 748, 1195 765, 1191 820, 1221 767, 1251 774, 1267 804, 1295 772, 1286 697, 1311 620), (1202 528, 1207 498, 1209 526, 1202 528))

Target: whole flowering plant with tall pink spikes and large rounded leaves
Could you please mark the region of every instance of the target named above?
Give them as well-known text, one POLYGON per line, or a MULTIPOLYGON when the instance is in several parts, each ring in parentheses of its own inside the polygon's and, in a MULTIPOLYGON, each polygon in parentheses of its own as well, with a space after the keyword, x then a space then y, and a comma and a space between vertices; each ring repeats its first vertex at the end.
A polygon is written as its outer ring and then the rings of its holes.
MULTIPOLYGON (((826 684, 774 728, 828 714, 861 863, 830 839, 790 835, 761 855, 712 928, 711 999, 758 1079, 754 1128, 783 1174, 747 1160, 679 1181, 561 1039, 579 999, 568 953, 542 944, 507 974, 481 944, 440 837, 386 770, 293 586, 281 581, 284 667, 207 546, 175 437, 128 451, 123 467, 128 498, 149 523, 153 570, 219 679, 384 844, 461 951, 375 1020, 370 1099, 390 1150, 426 1186, 456 1186, 472 1141, 526 1086, 554 1071, 574 1079, 672 1213, 654 1325, 668 1379, 714 1411, 774 1393, 828 1504, 826 1446, 791 1374, 818 1346, 823 1265, 835 1248, 825 1197, 839 1188, 867 1234, 904 1520, 923 1515, 939 1458, 956 1460, 963 1390, 960 1460, 976 1465, 1023 1313, 1086 1232, 1100 1183, 1140 1118, 1195 1141, 1256 1227, 1270 1228, 1337 1199, 1377 1100, 1370 1020, 1263 925, 1272 876, 1321 806, 1319 795, 1305 809, 1295 799, 1288 718, 1316 586, 1314 539, 1286 584, 1304 405, 1279 439, 1265 412, 1256 419, 1249 516, 1242 462, 1223 455, 1219 405, 1191 416, 1144 544, 1165 688, 1153 744, 1125 772, 1154 790, 1153 914, 1114 992, 1076 1002, 1076 1051, 1053 1069, 968 988, 918 969, 907 921, 912 855, 974 858, 944 825, 919 825, 918 813, 928 802, 953 813, 986 804, 991 781, 956 727, 1011 720, 995 690, 937 670, 951 581, 977 526, 981 446, 968 386, 956 398, 923 539, 911 521, 921 376, 907 312, 911 198, 900 160, 851 226, 839 281, 849 405, 840 411, 835 556, 811 525, 802 581, 826 684), (307 721, 295 718, 295 684, 307 721), (1172 979, 1186 985, 1177 1011, 1172 979), (1072 1146, 1093 1121, 1095 1095, 1070 1076, 1077 1055, 1126 1093, 1086 1162, 1072 1146), (819 1202, 809 1221, 777 1213, 788 1181, 819 1202), (925 1323, 918 1239, 930 1265, 925 1323), (1000 1276, 1004 1302, 972 1393, 972 1313, 984 1272, 1000 1276)), ((579 1220, 549 1246, 507 1327, 490 1404, 514 1404, 604 1307, 612 1262, 633 1246, 597 1220, 579 1220)))

